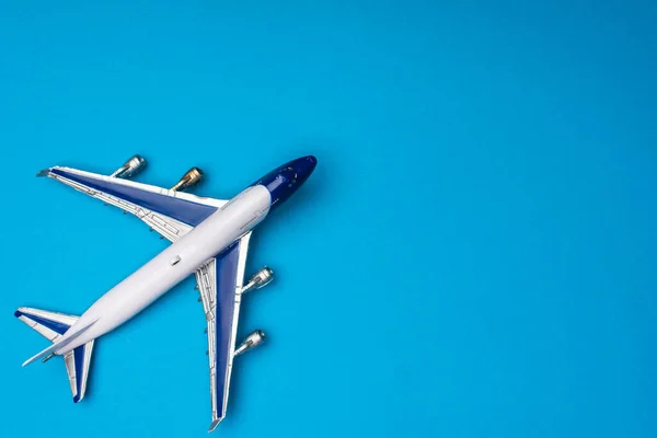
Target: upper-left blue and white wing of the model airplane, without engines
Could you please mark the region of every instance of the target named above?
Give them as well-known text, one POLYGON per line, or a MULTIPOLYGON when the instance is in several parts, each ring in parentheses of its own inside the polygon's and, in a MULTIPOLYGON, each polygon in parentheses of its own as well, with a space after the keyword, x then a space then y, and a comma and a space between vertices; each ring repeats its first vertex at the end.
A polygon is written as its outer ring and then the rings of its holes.
POLYGON ((70 168, 49 168, 38 172, 37 176, 49 176, 132 214, 171 242, 185 235, 227 203, 70 168))

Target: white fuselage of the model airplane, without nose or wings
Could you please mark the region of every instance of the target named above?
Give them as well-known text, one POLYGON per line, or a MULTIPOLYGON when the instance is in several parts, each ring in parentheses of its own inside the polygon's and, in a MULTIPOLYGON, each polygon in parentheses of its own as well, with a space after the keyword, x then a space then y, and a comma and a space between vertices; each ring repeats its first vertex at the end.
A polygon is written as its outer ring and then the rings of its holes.
POLYGON ((74 335, 95 321, 61 355, 113 331, 141 312, 207 261, 257 226, 269 211, 270 194, 255 185, 240 193, 223 207, 174 242, 128 278, 94 302, 64 335, 74 335))

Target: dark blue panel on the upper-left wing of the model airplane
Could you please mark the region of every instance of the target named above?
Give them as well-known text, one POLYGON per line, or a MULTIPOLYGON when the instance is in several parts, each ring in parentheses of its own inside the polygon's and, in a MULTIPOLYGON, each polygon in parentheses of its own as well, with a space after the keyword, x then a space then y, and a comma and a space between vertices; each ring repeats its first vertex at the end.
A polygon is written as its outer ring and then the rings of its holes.
POLYGON ((160 212, 192 227, 196 227, 217 211, 217 208, 204 204, 196 204, 191 200, 174 198, 124 184, 79 175, 61 169, 51 169, 50 172, 148 210, 160 212))

